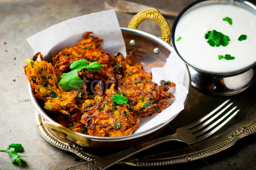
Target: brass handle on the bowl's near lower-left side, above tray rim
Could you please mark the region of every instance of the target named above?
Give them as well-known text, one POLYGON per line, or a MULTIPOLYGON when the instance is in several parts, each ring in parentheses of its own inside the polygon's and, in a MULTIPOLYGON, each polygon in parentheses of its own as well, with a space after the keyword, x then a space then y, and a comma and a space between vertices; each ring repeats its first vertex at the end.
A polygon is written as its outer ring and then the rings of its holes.
POLYGON ((75 142, 81 146, 88 147, 90 145, 90 141, 78 134, 76 134, 73 130, 64 127, 56 122, 44 121, 44 126, 52 133, 53 136, 60 139, 61 141, 70 143, 75 142))

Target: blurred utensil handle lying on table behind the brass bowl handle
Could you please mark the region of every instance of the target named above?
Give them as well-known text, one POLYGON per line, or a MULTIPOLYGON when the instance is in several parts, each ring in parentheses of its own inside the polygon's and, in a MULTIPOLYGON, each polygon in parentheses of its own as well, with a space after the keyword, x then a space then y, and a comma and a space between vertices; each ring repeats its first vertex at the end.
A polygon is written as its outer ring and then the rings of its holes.
MULTIPOLYGON (((154 8, 152 6, 145 6, 139 3, 129 2, 125 0, 105 0, 105 5, 108 6, 108 8, 112 8, 116 11, 125 13, 138 13, 147 8, 154 8)), ((160 13, 163 14, 165 17, 177 17, 177 15, 179 14, 179 12, 177 11, 169 11, 160 8, 157 8, 157 10, 160 11, 160 13)))

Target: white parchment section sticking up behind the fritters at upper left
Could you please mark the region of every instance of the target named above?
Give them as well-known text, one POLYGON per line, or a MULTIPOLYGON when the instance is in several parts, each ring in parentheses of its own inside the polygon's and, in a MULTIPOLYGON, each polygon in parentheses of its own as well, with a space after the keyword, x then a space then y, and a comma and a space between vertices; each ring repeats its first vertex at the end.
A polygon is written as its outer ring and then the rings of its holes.
POLYGON ((126 56, 122 31, 113 9, 65 20, 32 35, 27 41, 34 53, 40 51, 48 59, 63 48, 76 45, 87 31, 94 33, 91 36, 103 39, 102 49, 108 54, 121 52, 126 56))

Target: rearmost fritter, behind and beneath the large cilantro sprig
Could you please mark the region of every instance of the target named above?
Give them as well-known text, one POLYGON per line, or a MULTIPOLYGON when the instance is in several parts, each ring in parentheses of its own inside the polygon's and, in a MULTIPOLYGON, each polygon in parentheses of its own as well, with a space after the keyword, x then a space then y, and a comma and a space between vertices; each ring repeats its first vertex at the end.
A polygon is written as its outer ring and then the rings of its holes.
POLYGON ((102 69, 92 72, 84 69, 79 76, 91 81, 95 79, 102 80, 104 84, 116 82, 122 77, 120 69, 117 68, 119 63, 122 62, 122 54, 110 56, 101 49, 100 44, 96 44, 103 42, 103 40, 99 40, 96 36, 89 37, 89 34, 93 34, 93 32, 86 32, 78 44, 64 48, 58 55, 54 56, 53 65, 58 73, 62 74, 69 71, 68 68, 73 61, 86 59, 88 64, 98 61, 101 65, 105 65, 102 69))

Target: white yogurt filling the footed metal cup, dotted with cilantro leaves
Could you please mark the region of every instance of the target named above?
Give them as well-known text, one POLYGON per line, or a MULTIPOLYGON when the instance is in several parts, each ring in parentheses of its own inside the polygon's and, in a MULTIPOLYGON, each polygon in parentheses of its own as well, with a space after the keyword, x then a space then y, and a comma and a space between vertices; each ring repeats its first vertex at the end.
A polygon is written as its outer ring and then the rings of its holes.
POLYGON ((231 4, 209 4, 184 14, 175 29, 175 45, 180 56, 190 65, 204 71, 230 72, 256 62, 256 15, 231 4), (233 20, 230 25, 223 18, 233 20), (216 30, 230 38, 227 46, 212 47, 204 38, 216 30), (247 39, 239 41, 240 35, 247 39), (182 39, 176 41, 179 37, 182 39), (218 59, 230 54, 234 60, 218 59))

